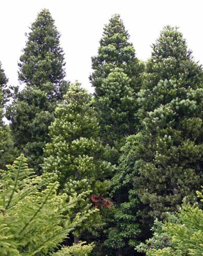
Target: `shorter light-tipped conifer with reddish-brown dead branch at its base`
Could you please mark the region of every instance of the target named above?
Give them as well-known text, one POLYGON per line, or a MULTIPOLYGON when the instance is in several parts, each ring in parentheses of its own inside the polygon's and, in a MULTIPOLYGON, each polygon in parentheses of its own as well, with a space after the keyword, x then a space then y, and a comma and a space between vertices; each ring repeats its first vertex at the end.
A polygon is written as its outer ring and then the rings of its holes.
MULTIPOLYGON (((61 191, 92 191, 91 199, 76 205, 77 211, 92 204, 108 206, 103 196, 108 194, 112 167, 102 159, 104 148, 98 139, 99 126, 91 96, 76 83, 69 87, 64 100, 56 108, 55 121, 50 126, 51 142, 45 147, 43 170, 57 174, 61 191), (75 185, 76 182, 79 183, 75 185)), ((97 220, 91 218, 75 235, 79 237, 86 228, 93 232, 94 226, 102 226, 97 220)))

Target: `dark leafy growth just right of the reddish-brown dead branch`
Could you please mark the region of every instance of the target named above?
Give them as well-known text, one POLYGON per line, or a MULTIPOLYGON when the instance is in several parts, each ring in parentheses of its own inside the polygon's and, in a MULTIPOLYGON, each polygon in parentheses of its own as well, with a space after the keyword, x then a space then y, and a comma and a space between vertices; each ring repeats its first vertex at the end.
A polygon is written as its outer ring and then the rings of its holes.
POLYGON ((116 174, 111 182, 111 194, 115 203, 115 215, 109 237, 105 244, 110 248, 122 248, 124 254, 134 253, 139 241, 140 223, 138 218, 139 199, 133 187, 136 170, 133 168, 134 136, 127 138, 116 174))

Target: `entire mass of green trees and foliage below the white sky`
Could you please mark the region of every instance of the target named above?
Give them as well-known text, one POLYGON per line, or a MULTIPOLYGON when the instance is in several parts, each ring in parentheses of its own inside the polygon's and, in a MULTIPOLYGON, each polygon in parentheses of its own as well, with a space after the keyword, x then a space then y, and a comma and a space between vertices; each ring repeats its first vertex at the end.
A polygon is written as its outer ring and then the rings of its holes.
POLYGON ((66 80, 49 10, 26 36, 21 86, 0 63, 0 254, 203 255, 203 69, 183 34, 143 62, 113 15, 93 95, 66 80))

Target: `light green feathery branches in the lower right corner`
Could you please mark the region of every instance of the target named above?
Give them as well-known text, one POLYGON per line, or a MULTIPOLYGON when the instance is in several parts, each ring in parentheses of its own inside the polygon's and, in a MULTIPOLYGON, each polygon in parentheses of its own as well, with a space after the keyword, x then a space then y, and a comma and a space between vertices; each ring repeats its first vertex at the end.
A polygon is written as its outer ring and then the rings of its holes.
MULTIPOLYGON (((197 193, 199 197, 203 198, 202 193, 197 193)), ((148 256, 203 255, 202 219, 203 211, 198 204, 191 206, 184 202, 180 212, 174 218, 169 218, 162 224, 161 229, 154 232, 153 237, 147 241, 146 245, 142 244, 137 249, 141 251, 141 248, 148 256), (162 238, 161 246, 160 238, 162 238), (164 239, 165 241, 168 240, 168 243, 164 244, 164 239)))

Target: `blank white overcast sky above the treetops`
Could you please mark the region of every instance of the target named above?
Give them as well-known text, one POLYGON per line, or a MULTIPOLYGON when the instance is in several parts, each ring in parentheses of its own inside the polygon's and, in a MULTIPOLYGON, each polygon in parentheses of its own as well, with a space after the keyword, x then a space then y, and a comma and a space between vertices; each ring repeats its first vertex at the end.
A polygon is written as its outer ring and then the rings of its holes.
POLYGON ((0 60, 9 84, 18 84, 25 32, 42 8, 51 11, 62 34, 67 79, 79 80, 89 91, 91 56, 97 54, 103 26, 115 13, 121 14, 139 59, 150 57, 151 43, 163 26, 172 25, 180 27, 195 60, 203 64, 202 0, 1 0, 0 60))

